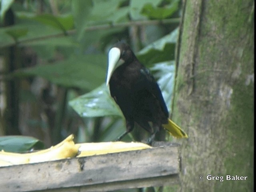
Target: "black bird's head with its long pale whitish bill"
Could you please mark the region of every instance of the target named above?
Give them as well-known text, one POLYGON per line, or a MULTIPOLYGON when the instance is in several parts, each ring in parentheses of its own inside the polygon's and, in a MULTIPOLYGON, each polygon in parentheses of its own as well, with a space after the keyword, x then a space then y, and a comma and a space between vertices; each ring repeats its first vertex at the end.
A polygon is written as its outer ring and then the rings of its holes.
POLYGON ((128 44, 123 41, 114 44, 114 46, 108 52, 106 85, 108 86, 110 78, 116 68, 124 63, 132 62, 134 58, 136 57, 128 44))

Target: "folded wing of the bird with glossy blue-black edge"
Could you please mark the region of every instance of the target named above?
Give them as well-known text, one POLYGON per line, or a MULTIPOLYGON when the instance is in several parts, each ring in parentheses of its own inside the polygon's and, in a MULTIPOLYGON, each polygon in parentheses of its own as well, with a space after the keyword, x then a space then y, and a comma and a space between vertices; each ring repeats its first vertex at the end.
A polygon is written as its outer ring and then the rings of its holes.
POLYGON ((156 80, 154 79, 154 77, 152 76, 152 74, 150 74, 149 70, 145 67, 140 69, 140 80, 141 81, 139 84, 143 85, 148 92, 150 92, 154 97, 156 97, 156 100, 159 101, 160 106, 165 114, 165 116, 168 118, 169 113, 168 113, 168 109, 166 107, 166 104, 164 102, 164 98, 162 96, 162 92, 156 82, 156 80))

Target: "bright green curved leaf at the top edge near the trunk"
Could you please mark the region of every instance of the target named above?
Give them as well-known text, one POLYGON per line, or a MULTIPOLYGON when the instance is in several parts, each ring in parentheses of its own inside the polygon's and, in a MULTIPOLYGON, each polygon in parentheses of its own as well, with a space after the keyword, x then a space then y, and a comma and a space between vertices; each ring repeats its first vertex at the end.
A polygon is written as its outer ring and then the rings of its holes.
POLYGON ((146 15, 152 19, 165 19, 169 18, 174 12, 178 10, 178 0, 165 7, 154 7, 152 4, 147 3, 141 10, 141 14, 146 15))

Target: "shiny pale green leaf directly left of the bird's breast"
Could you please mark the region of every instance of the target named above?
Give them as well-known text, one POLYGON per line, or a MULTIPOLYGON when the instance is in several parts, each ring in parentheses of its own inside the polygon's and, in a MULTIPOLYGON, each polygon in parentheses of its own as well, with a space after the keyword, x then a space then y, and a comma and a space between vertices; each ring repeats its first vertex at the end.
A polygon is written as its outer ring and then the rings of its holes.
POLYGON ((70 101, 69 104, 82 117, 122 116, 122 112, 111 98, 106 84, 70 101))

